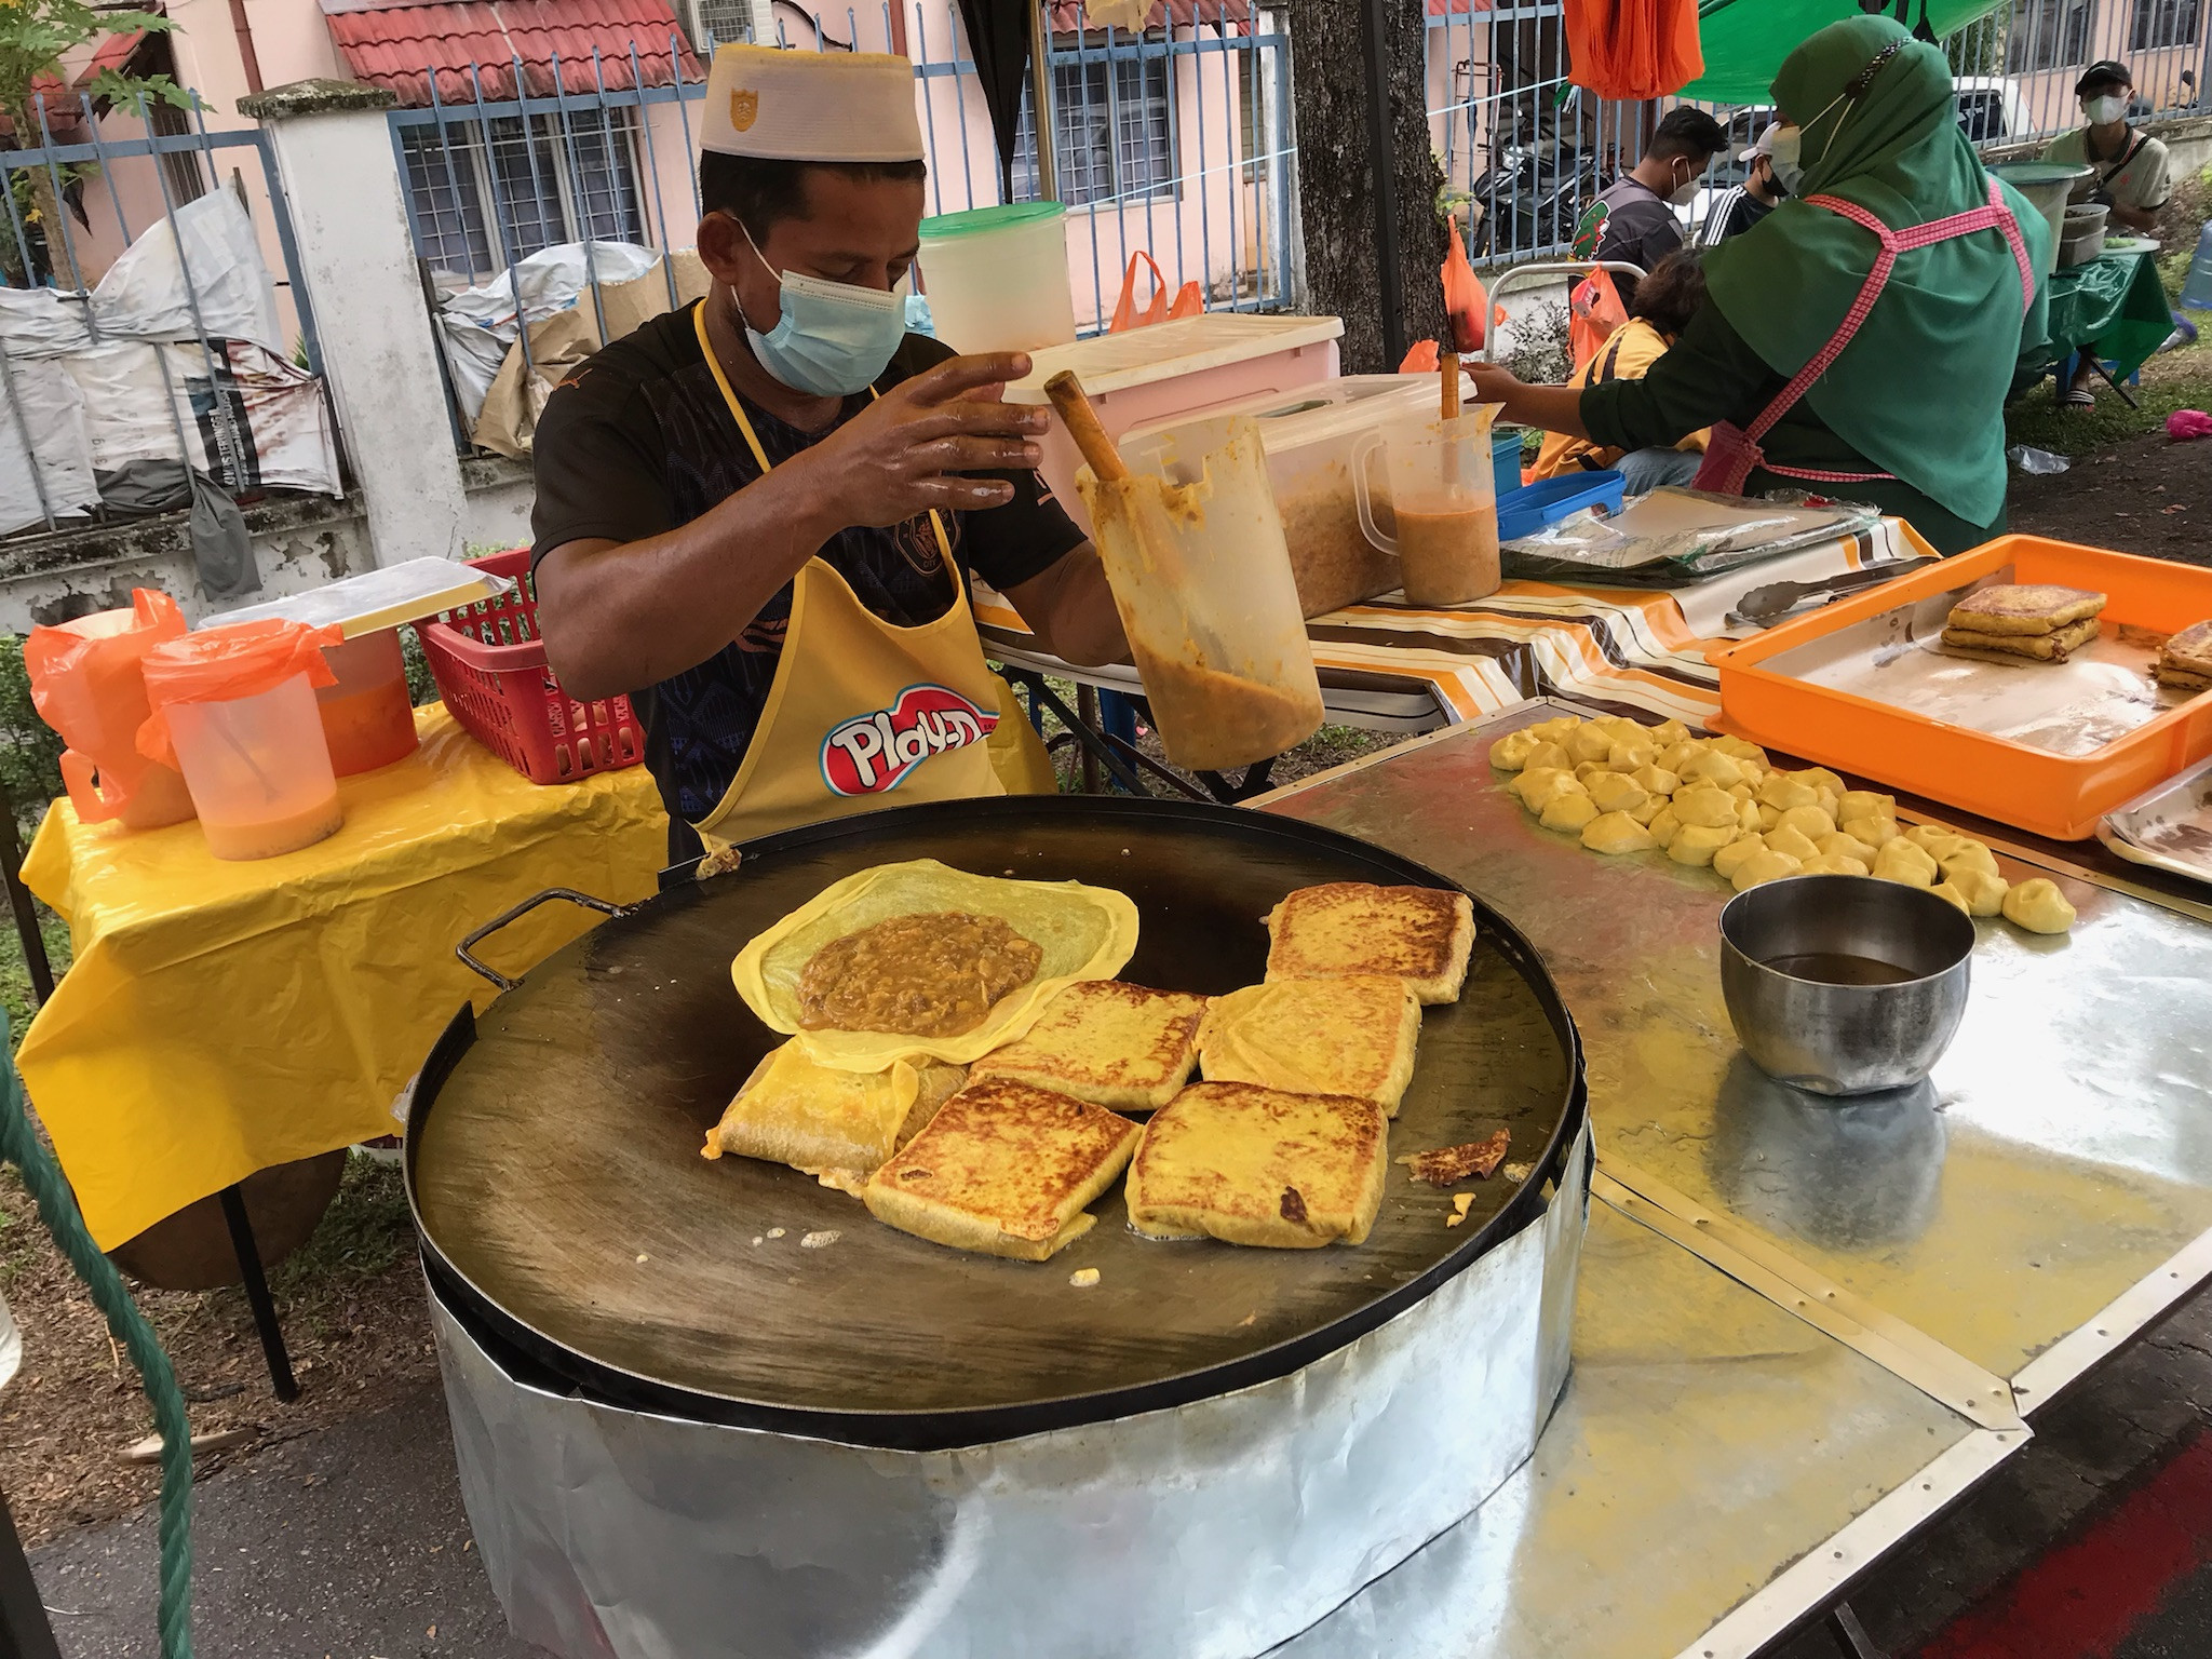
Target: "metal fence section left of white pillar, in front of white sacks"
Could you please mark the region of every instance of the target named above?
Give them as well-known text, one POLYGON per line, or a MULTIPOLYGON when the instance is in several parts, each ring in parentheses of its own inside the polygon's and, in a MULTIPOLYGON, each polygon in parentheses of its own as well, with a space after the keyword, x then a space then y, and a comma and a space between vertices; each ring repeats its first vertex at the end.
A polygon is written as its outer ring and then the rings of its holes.
POLYGON ((188 478, 170 471, 175 467, 212 478, 234 495, 285 487, 338 493, 336 414, 268 135, 259 126, 210 128, 197 95, 190 111, 148 104, 144 95, 135 106, 102 111, 91 95, 38 93, 33 115, 38 131, 15 133, 18 148, 0 150, 7 197, 0 279, 24 294, 0 316, 0 392, 9 403, 0 495, 13 520, 0 533, 55 531, 181 504, 161 502, 164 491, 188 489, 188 478), (241 164, 252 166, 250 184, 241 164), (239 259, 210 257, 206 215, 195 204, 217 190, 237 199, 250 226, 226 243, 239 259), (192 221, 190 230, 179 215, 192 221), (153 259, 175 259, 173 292, 184 307, 168 325, 144 316, 142 294, 111 299, 111 285, 95 281, 146 246, 144 232, 157 226, 168 237, 166 252, 155 250, 153 259), (246 341, 226 325, 234 307, 217 312, 210 296, 234 296, 241 283, 259 288, 263 232, 274 234, 283 263, 274 283, 274 327, 265 330, 281 338, 246 341), (257 246, 248 252, 237 246, 241 239, 257 246), (51 294, 53 303, 29 305, 33 292, 51 294), (279 352, 285 341, 290 361, 279 352), (115 376, 113 352, 102 356, 115 345, 153 347, 139 354, 144 365, 133 363, 144 376, 115 376), (58 392, 66 392, 66 400, 58 392), (292 394, 290 414, 279 411, 285 420, 296 416, 299 396, 314 405, 305 420, 312 427, 307 462, 296 476, 283 467, 265 476, 261 467, 270 447, 270 394, 279 400, 292 394), (173 453, 150 453, 168 449, 153 438, 159 429, 168 431, 173 453), (128 460, 148 460, 155 473, 128 476, 128 460), (35 520, 22 522, 27 513, 13 511, 18 495, 35 498, 35 520))

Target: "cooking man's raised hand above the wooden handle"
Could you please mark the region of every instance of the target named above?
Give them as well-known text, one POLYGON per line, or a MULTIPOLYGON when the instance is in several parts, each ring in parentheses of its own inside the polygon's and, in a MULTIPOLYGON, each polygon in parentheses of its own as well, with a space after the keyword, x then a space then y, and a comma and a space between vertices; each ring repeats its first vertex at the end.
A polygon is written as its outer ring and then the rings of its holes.
POLYGON ((803 456, 807 493, 836 524, 889 529, 931 507, 1004 507, 1013 484, 960 473, 1013 471, 1040 460, 1042 407, 1002 403, 1006 380, 1029 374, 1020 352, 958 356, 885 392, 803 456))

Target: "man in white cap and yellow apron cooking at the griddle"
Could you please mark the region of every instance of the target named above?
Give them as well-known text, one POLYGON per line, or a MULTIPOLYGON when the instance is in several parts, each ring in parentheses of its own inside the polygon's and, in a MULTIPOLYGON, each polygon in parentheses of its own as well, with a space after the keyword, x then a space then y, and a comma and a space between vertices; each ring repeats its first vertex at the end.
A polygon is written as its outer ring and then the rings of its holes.
POLYGON ((1053 655, 1126 653, 1035 476, 1020 354, 905 332, 922 135, 905 58, 723 46, 703 301, 615 341, 535 436, 538 628, 577 699, 630 692, 670 858, 847 812, 1051 790, 962 568, 1053 655))

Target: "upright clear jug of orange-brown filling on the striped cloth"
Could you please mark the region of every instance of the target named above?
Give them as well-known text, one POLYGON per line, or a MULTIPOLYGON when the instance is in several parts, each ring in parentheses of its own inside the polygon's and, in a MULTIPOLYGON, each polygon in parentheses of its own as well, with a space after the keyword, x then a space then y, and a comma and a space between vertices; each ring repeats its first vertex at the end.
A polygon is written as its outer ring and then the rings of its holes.
POLYGON ((1360 529, 1398 555, 1413 606, 1467 604, 1498 593, 1498 473, 1491 467, 1495 403, 1442 418, 1398 420, 1369 434, 1352 465, 1360 529), (1383 447, 1398 533, 1376 524, 1367 458, 1383 447))

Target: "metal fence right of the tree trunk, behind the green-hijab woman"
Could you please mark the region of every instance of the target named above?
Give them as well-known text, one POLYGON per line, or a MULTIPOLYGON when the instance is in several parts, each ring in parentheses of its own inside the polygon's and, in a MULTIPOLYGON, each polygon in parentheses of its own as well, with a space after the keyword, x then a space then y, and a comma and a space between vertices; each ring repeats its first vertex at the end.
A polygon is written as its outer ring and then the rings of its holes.
MULTIPOLYGON (((1429 27, 1429 126, 1447 201, 1478 263, 1564 252, 1590 199, 1635 166, 1677 100, 1615 104, 1568 80, 1559 0, 1405 0, 1429 27)), ((2073 86, 2099 58, 2130 64, 2137 117, 2212 111, 2212 0, 2013 0, 1949 35, 1960 124, 1986 153, 2024 150, 2081 126, 2073 86)), ((1730 150, 1697 210, 1743 179, 1736 150, 1765 106, 1703 104, 1730 150)))

